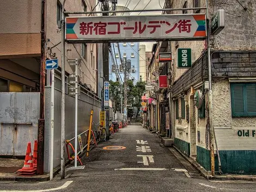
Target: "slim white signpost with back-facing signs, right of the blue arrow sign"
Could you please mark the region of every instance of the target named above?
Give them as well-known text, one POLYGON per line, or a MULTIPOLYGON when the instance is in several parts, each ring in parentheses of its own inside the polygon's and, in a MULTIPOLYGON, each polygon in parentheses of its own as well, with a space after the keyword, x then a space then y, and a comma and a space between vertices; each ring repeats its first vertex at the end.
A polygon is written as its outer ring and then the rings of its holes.
POLYGON ((78 75, 77 75, 77 67, 81 63, 81 59, 68 59, 67 60, 71 69, 74 71, 75 67, 75 168, 77 167, 77 101, 78 101, 78 75))

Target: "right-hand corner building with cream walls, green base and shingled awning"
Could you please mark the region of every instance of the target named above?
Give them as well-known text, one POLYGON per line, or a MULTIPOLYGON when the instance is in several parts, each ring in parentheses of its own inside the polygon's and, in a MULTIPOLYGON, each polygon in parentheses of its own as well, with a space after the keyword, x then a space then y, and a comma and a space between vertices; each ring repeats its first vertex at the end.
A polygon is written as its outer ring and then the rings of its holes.
MULTIPOLYGON (((169 4, 174 9, 205 7, 204 1, 174 0, 169 4)), ((159 52, 172 52, 173 58, 172 63, 166 64, 169 65, 166 72, 169 88, 167 92, 161 89, 159 95, 163 94, 162 98, 169 106, 170 135, 174 145, 196 159, 205 170, 218 174, 220 170, 222 174, 256 174, 256 34, 252 27, 256 23, 256 3, 248 2, 246 8, 231 1, 217 0, 209 4, 209 18, 218 9, 225 11, 225 28, 219 34, 210 36, 212 121, 216 142, 211 139, 214 132, 210 130, 206 42, 172 41, 167 42, 169 46, 160 42, 158 48, 159 52), (192 49, 193 64, 190 69, 177 68, 177 48, 192 49), (211 170, 211 145, 214 145, 215 170, 211 170), (218 156, 221 169, 218 169, 218 156)), ((203 10, 200 11, 203 13, 203 10)), ((192 14, 193 11, 172 11, 170 14, 187 13, 192 14)), ((158 98, 157 102, 161 103, 162 98, 158 98)), ((168 108, 164 110, 168 113, 168 108)))

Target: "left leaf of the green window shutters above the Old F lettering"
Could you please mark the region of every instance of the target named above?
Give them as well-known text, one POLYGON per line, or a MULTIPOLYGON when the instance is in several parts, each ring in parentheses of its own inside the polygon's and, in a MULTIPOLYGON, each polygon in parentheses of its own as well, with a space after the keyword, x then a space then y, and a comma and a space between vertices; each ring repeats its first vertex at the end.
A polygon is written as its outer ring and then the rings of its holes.
POLYGON ((232 116, 246 116, 245 114, 245 84, 231 84, 231 109, 232 116))

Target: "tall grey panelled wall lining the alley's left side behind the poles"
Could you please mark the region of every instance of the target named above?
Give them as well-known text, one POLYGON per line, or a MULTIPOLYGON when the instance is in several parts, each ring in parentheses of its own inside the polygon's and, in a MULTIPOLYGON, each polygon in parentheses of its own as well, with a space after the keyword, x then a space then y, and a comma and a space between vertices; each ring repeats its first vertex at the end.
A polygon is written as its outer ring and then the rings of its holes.
MULTIPOLYGON (((93 120, 99 122, 101 102, 82 91, 78 98, 78 134, 89 128, 90 110, 94 110, 93 120)), ((51 119, 51 87, 45 88, 45 172, 50 170, 50 119, 51 119)), ((53 166, 60 165, 60 108, 61 92, 54 91, 54 157, 53 166)), ((75 137, 75 97, 65 97, 65 139, 75 137)), ((72 143, 74 145, 74 143, 72 143)), ((79 145, 78 145, 79 148, 79 145)))

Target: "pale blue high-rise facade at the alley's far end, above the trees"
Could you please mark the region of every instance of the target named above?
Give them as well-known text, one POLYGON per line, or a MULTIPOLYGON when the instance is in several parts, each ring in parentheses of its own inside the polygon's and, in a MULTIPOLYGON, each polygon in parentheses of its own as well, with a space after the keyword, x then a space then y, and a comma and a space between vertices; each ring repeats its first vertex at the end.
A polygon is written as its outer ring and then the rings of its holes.
POLYGON ((139 43, 138 42, 124 42, 119 43, 120 54, 118 50, 118 43, 111 44, 111 53, 109 53, 109 80, 117 81, 118 73, 124 82, 124 64, 125 61, 131 60, 131 69, 127 70, 127 77, 133 80, 134 83, 140 80, 139 77, 139 43))

